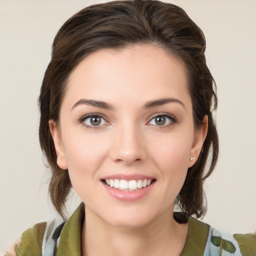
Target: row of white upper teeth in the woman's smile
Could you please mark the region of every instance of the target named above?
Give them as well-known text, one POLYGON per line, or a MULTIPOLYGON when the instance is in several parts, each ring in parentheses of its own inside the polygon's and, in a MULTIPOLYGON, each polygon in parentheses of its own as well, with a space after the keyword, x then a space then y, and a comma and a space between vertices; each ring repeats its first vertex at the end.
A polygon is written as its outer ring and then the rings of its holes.
POLYGON ((151 184, 152 179, 132 179, 132 180, 125 180, 125 179, 105 179, 105 182, 110 187, 117 188, 119 190, 124 191, 134 191, 138 188, 146 187, 151 184))

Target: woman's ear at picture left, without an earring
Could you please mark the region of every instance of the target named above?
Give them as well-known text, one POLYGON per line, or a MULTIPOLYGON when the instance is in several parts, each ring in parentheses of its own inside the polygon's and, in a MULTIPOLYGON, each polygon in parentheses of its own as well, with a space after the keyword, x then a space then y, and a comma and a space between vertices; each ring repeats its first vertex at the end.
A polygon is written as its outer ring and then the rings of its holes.
POLYGON ((67 162, 66 162, 65 151, 64 151, 63 143, 61 139, 61 134, 57 127, 56 122, 52 119, 49 120, 49 128, 50 128, 50 133, 51 133, 56 154, 57 154, 57 165, 61 169, 67 169, 67 162))

